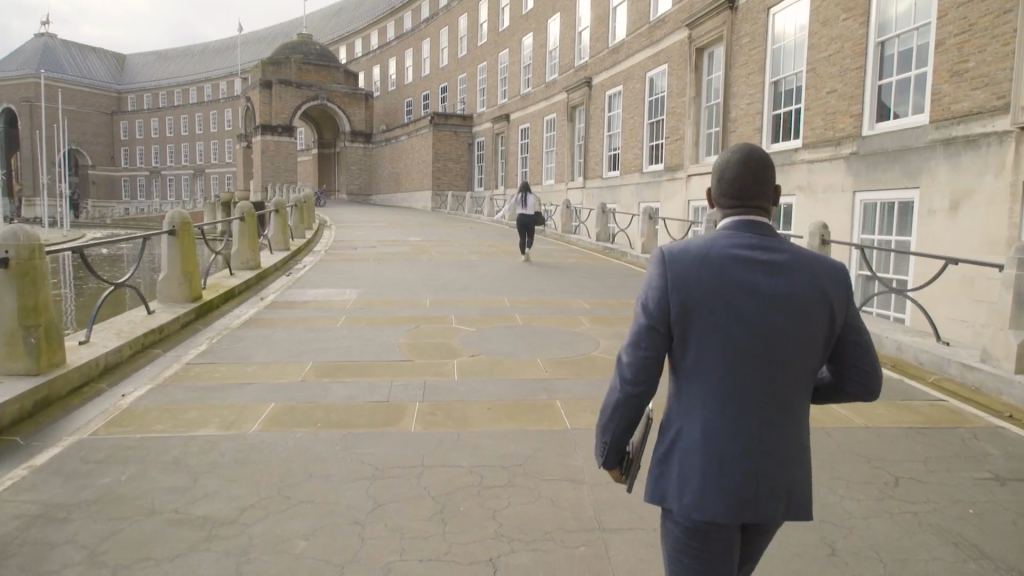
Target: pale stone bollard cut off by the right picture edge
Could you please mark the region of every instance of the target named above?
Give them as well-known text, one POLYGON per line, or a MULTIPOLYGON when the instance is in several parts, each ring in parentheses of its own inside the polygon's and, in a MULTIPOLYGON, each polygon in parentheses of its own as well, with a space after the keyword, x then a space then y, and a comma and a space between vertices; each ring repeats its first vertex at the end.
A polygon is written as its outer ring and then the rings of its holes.
POLYGON ((1024 374, 1024 242, 1014 244, 1002 271, 992 330, 981 362, 1011 374, 1024 374))

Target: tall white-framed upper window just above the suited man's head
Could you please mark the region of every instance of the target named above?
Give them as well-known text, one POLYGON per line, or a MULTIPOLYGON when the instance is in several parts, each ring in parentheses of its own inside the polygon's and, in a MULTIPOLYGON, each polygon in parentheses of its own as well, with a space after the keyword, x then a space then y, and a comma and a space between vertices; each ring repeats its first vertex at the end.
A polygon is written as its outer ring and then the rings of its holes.
POLYGON ((768 15, 765 148, 799 148, 804 127, 804 74, 810 0, 790 0, 768 15))

